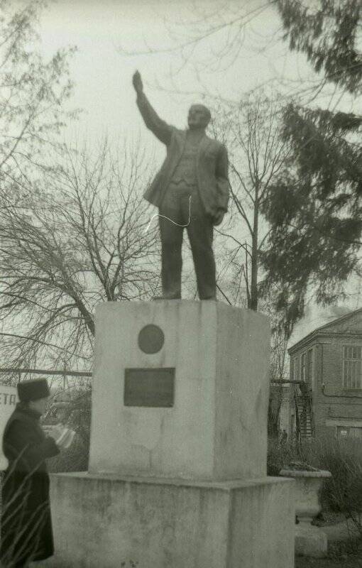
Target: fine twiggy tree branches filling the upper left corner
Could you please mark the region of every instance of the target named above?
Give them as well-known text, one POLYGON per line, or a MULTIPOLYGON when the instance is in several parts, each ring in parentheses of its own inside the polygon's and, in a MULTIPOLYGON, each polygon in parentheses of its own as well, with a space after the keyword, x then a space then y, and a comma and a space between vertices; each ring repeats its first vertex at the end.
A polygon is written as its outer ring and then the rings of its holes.
POLYGON ((65 103, 75 49, 40 56, 36 30, 44 8, 44 0, 0 0, 0 180, 16 180, 18 191, 73 116, 65 103))

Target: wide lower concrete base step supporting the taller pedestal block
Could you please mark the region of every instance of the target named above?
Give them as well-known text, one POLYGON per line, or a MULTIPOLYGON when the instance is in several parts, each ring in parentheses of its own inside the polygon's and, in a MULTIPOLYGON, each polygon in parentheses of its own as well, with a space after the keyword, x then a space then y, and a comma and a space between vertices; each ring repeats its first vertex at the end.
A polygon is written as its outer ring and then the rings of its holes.
POLYGON ((56 568, 292 568, 293 482, 53 474, 56 568), (122 564, 125 562, 125 564, 122 564))

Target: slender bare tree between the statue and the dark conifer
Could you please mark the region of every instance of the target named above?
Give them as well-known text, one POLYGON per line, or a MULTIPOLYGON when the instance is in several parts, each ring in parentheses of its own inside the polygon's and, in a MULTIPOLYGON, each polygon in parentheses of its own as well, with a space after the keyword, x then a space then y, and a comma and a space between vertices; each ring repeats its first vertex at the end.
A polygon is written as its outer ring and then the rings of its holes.
POLYGON ((236 297, 243 288, 251 310, 258 309, 260 251, 268 236, 262 208, 288 155, 280 136, 279 111, 262 96, 243 99, 238 109, 219 107, 215 112, 216 133, 229 148, 234 204, 229 228, 218 232, 229 237, 236 297))

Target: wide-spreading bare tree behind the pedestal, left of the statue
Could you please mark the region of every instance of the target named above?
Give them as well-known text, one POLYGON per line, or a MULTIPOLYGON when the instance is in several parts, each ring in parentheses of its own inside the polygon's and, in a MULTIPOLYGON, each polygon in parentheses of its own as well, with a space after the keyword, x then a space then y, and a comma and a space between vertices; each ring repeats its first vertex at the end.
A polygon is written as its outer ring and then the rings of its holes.
POLYGON ((104 143, 94 157, 67 151, 21 202, 1 193, 6 367, 66 358, 89 368, 97 302, 155 293, 155 224, 142 199, 148 174, 139 147, 119 157, 104 143))

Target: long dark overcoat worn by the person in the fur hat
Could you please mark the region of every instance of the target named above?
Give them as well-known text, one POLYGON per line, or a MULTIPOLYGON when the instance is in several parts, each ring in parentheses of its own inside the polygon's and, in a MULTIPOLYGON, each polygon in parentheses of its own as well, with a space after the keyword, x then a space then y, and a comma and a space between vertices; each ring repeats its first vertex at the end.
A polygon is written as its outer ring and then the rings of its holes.
POLYGON ((53 555, 49 476, 45 458, 59 449, 46 437, 40 415, 18 403, 3 437, 9 460, 1 488, 1 566, 20 567, 53 555))

